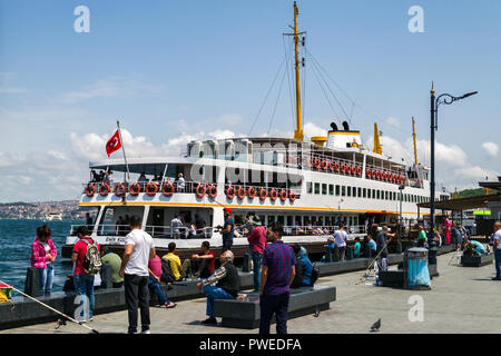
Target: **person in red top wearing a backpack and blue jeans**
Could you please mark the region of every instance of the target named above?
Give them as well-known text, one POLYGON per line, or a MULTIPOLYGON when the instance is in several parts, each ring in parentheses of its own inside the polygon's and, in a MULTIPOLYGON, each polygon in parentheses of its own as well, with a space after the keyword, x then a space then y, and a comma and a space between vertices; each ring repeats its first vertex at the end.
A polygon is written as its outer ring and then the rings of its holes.
POLYGON ((84 319, 80 322, 94 322, 94 279, 95 275, 99 273, 100 264, 102 264, 99 256, 99 245, 89 235, 87 226, 78 227, 77 236, 79 240, 75 244, 71 254, 71 261, 75 264, 75 289, 77 289, 79 296, 84 296, 89 303, 89 314, 82 315, 84 319))

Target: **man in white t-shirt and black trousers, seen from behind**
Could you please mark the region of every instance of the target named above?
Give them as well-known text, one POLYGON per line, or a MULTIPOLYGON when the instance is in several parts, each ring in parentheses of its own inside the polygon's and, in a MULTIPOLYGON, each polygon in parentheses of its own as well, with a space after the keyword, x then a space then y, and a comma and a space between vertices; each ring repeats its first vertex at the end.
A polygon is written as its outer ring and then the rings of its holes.
POLYGON ((130 217, 130 233, 125 240, 125 253, 119 276, 124 277, 125 297, 129 318, 128 334, 137 334, 137 308, 141 313, 141 333, 149 330, 148 261, 157 254, 151 236, 141 229, 141 218, 130 217))

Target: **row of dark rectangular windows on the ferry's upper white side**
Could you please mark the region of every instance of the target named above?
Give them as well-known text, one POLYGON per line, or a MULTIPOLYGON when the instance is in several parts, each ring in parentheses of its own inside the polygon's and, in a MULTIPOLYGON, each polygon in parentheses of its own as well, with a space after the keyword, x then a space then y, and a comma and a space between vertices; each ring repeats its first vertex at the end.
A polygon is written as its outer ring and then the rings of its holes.
MULTIPOLYGON (((340 186, 340 185, 327 185, 320 182, 306 182, 306 192, 315 194, 315 195, 328 195, 336 197, 353 197, 353 198, 369 198, 369 199, 379 199, 379 200, 393 200, 400 201, 400 192, 399 191, 390 191, 390 190, 380 190, 372 188, 361 188, 361 187, 350 187, 350 186, 340 186)), ((448 199, 448 196, 441 196, 440 200, 448 199)), ((402 196, 402 201, 405 202, 428 202, 430 201, 429 197, 404 194, 402 196)))

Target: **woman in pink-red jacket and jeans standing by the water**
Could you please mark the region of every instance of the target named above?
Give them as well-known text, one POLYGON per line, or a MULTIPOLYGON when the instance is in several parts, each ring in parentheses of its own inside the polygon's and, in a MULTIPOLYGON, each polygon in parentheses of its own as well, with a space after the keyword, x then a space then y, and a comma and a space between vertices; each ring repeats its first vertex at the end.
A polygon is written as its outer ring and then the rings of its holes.
POLYGON ((47 225, 37 228, 37 238, 31 244, 31 267, 38 269, 40 295, 50 295, 53 281, 53 263, 57 249, 50 236, 52 231, 47 225))

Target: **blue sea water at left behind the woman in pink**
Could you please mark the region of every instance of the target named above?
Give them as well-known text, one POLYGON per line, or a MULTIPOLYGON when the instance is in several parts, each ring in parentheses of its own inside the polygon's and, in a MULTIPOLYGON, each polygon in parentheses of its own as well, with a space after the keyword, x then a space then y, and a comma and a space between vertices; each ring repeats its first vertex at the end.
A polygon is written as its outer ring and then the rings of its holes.
POLYGON ((61 248, 71 225, 85 221, 41 221, 41 220, 3 220, 0 219, 0 279, 24 290, 27 268, 30 267, 31 244, 36 238, 37 227, 47 224, 52 230, 52 243, 57 248, 52 290, 62 290, 66 276, 71 274, 71 261, 62 259, 61 248))

